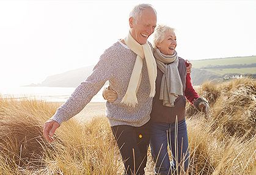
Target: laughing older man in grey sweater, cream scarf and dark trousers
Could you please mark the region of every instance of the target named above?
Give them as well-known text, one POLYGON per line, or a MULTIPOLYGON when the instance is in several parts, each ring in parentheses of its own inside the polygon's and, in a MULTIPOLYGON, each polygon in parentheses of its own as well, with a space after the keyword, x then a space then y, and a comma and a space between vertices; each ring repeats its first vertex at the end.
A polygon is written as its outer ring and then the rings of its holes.
POLYGON ((43 135, 49 142, 63 121, 79 113, 103 87, 106 80, 118 93, 106 102, 107 118, 119 146, 125 174, 145 174, 150 132, 150 112, 155 95, 156 62, 147 39, 156 27, 156 11, 150 4, 134 7, 130 32, 104 51, 92 74, 48 121, 43 135))

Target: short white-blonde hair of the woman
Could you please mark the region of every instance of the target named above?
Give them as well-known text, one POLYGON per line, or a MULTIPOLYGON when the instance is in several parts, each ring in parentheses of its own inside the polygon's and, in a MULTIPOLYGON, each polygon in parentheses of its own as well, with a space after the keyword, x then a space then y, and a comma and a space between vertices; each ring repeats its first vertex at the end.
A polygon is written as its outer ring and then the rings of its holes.
POLYGON ((169 31, 175 33, 175 29, 164 24, 158 24, 153 33, 153 48, 156 48, 156 45, 161 43, 164 40, 164 34, 169 31))

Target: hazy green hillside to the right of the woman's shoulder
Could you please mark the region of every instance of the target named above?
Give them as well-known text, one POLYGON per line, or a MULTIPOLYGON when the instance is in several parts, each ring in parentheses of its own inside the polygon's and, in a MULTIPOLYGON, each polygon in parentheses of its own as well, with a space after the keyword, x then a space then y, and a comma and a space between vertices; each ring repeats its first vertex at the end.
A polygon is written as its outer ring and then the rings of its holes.
POLYGON ((191 60, 191 63, 194 85, 200 85, 207 80, 221 82, 236 75, 256 77, 256 56, 191 60))

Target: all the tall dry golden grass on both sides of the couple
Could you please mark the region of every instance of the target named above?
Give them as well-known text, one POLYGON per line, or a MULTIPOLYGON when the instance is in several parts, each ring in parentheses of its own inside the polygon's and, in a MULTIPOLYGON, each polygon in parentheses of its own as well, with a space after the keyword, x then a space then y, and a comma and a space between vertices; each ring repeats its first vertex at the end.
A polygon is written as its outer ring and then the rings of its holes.
MULTIPOLYGON (((256 174, 256 81, 207 83, 198 91, 210 102, 210 116, 187 105, 191 161, 181 174, 256 174)), ((56 109, 49 102, 0 98, 0 174, 122 174, 106 118, 71 119, 49 144, 42 126, 56 109)), ((150 151, 146 172, 153 174, 150 151)))

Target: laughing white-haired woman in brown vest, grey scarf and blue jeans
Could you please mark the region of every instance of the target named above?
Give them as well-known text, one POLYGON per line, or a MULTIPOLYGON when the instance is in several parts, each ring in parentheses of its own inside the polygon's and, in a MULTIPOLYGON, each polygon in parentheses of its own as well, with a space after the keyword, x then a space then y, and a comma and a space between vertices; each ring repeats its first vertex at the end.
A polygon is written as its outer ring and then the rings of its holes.
MULTIPOLYGON (((186 71, 188 63, 178 57, 176 46, 174 29, 158 25, 153 34, 153 55, 158 68, 156 94, 150 114, 150 147, 155 174, 172 174, 188 169, 186 99, 204 113, 209 110, 208 102, 200 98, 192 87, 190 74, 186 71), (167 152, 168 146, 172 152, 172 162, 167 152)), ((111 90, 105 90, 103 96, 109 101, 117 98, 111 90)))

